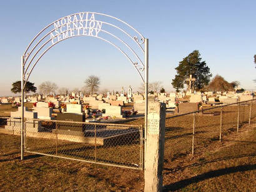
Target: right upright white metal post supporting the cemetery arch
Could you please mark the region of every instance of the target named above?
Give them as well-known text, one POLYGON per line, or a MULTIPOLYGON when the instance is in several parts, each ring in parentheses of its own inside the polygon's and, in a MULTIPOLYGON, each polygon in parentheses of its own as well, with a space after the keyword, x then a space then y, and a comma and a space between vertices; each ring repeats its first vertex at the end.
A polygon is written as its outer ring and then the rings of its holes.
POLYGON ((146 161, 146 153, 147 153, 147 113, 148 113, 148 93, 149 93, 149 39, 145 39, 145 79, 144 79, 144 85, 145 85, 145 130, 144 130, 144 165, 146 161))

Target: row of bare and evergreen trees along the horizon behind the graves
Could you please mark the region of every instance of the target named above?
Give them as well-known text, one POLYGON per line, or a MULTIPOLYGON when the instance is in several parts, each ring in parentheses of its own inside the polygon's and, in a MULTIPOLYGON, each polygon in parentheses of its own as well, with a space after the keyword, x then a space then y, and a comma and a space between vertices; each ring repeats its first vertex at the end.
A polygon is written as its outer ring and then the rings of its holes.
MULTIPOLYGON (((254 64, 256 68, 256 55, 254 55, 254 64)), ((181 89, 184 89, 184 85, 188 84, 186 79, 192 75, 195 79, 195 82, 192 86, 194 86, 194 90, 197 91, 205 91, 205 90, 212 90, 212 91, 229 91, 234 90, 236 87, 240 85, 240 82, 233 81, 227 82, 224 77, 220 75, 216 75, 212 80, 212 74, 210 73, 210 68, 207 66, 205 61, 202 61, 200 57, 199 50, 194 50, 191 52, 187 57, 182 59, 179 62, 179 65, 175 67, 177 74, 175 78, 172 79, 172 87, 179 92, 181 89)), ((254 79, 256 83, 256 79, 254 79)), ((82 88, 82 92, 86 94, 94 94, 99 90, 99 85, 101 81, 99 77, 96 75, 90 75, 84 83, 86 84, 82 88)), ((54 94, 58 89, 58 86, 50 81, 42 82, 39 85, 39 93, 41 94, 54 94)), ((28 94, 29 92, 36 92, 37 87, 34 86, 34 83, 27 81, 25 85, 24 92, 28 94)), ((139 87, 140 92, 144 92, 145 87, 144 84, 141 84, 139 87)), ((67 94, 70 90, 66 87, 61 87, 59 89, 59 94, 67 94)), ((103 94, 107 93, 107 89, 102 90, 103 94)), ((18 80, 12 84, 11 92, 14 94, 21 93, 21 81, 18 80)), ((72 92, 79 92, 79 89, 74 89, 72 92)), ((162 83, 159 81, 149 83, 149 92, 161 92, 164 93, 165 89, 162 87, 162 83)))

